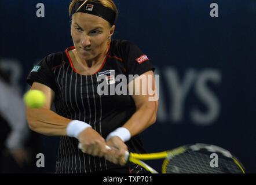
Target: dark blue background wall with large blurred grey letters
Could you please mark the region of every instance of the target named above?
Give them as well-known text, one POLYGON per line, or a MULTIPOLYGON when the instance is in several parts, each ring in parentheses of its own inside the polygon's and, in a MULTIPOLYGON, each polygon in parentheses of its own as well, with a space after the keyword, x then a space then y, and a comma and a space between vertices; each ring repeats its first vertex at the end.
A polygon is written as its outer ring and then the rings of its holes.
MULTIPOLYGON (((187 143, 228 149, 255 171, 255 1, 114 1, 115 39, 136 43, 160 75, 158 121, 142 133, 149 152, 187 143), (218 17, 210 4, 218 4, 218 17), (178 95, 184 94, 178 101, 178 95)), ((1 64, 24 93, 32 66, 72 46, 69 0, 1 0, 1 64), (45 17, 36 17, 36 4, 45 17), (17 68, 15 68, 17 66, 17 68)), ((54 172, 58 137, 35 134, 54 172)), ((161 162, 149 162, 160 171, 161 162)))

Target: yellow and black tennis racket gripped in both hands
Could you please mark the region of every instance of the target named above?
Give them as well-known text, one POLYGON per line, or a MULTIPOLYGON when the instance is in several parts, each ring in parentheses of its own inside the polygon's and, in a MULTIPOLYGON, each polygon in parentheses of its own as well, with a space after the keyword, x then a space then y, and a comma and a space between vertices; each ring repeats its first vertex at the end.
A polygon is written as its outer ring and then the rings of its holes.
MULTIPOLYGON (((82 149, 81 143, 78 147, 82 149)), ((159 153, 126 152, 124 157, 126 161, 140 165, 151 173, 158 172, 141 160, 164 158, 162 173, 245 173, 242 163, 228 150, 203 143, 184 145, 159 153)))

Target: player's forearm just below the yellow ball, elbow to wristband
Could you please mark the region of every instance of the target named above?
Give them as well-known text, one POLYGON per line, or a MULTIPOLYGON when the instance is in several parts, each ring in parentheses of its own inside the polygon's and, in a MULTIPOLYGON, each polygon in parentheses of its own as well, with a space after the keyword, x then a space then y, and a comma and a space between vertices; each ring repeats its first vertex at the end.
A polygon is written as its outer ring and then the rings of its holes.
POLYGON ((52 110, 27 108, 27 121, 32 131, 44 135, 67 135, 70 119, 54 113, 52 110))

